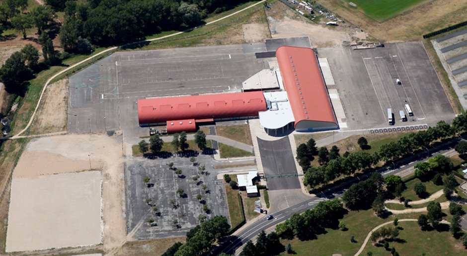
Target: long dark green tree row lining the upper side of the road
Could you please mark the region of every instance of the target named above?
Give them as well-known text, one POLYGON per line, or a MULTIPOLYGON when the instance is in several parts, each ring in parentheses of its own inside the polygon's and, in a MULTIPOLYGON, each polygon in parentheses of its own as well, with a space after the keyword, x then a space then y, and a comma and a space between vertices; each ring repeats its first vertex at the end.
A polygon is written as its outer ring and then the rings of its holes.
MULTIPOLYGON (((341 157, 337 147, 333 146, 330 152, 325 147, 318 150, 315 141, 310 139, 306 144, 303 143, 297 147, 297 160, 305 172, 304 184, 316 188, 339 177, 353 175, 356 171, 373 168, 381 160, 388 163, 412 155, 419 150, 427 150, 433 142, 451 138, 465 131, 467 131, 466 112, 455 117, 452 125, 439 121, 435 127, 409 133, 396 141, 383 144, 380 150, 373 154, 365 151, 345 152, 341 157), (320 163, 318 167, 311 167, 310 163, 314 160, 314 156, 318 156, 320 163)), ((358 140, 362 149, 368 148, 367 143, 364 137, 358 140)), ((459 149, 467 152, 467 142, 463 142, 459 149)), ((441 163, 441 165, 445 164, 441 163)), ((444 169, 442 166, 438 168, 444 169)))

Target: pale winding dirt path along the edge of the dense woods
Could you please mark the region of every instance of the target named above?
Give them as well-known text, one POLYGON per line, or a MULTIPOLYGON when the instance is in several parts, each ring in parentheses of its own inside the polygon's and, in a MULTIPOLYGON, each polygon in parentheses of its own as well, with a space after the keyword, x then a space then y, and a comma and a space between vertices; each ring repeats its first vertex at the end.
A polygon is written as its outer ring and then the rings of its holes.
MULTIPOLYGON (((244 10, 247 10, 247 9, 253 7, 253 6, 256 6, 256 5, 258 5, 258 4, 260 4, 260 3, 264 2, 264 1, 266 1, 266 0, 261 0, 261 1, 257 2, 257 3, 254 3, 254 4, 251 4, 251 5, 247 6, 247 7, 243 8, 243 9, 241 9, 241 10, 238 10, 238 11, 235 11, 235 12, 229 14, 229 15, 226 15, 226 16, 224 16, 224 17, 222 17, 222 18, 218 18, 218 19, 216 19, 216 20, 210 21, 210 22, 206 23, 204 26, 207 26, 207 25, 210 25, 210 24, 219 22, 219 21, 221 21, 221 20, 223 20, 223 19, 229 18, 229 17, 231 17, 231 16, 233 16, 233 15, 236 15, 236 14, 238 14, 238 13, 244 11, 244 10)), ((153 39, 148 39, 148 40, 144 40, 144 41, 140 41, 140 42, 134 42, 134 43, 125 44, 125 45, 123 45, 123 46, 132 45, 132 44, 141 43, 141 42, 151 42, 151 41, 161 40, 161 39, 165 39, 165 38, 167 38, 167 37, 172 37, 172 36, 176 36, 176 35, 182 34, 182 33, 185 32, 185 31, 191 31, 191 30, 193 30, 193 29, 195 29, 195 28, 197 28, 197 27, 189 28, 189 29, 184 30, 184 31, 176 32, 176 33, 173 33, 173 34, 170 34, 170 35, 166 35, 166 36, 162 36, 162 37, 158 37, 158 38, 153 38, 153 39)), ((38 101, 37 101, 36 108, 34 109, 34 112, 32 113, 31 118, 29 119, 28 124, 27 124, 26 127, 24 127, 24 129, 22 129, 18 134, 16 134, 16 135, 10 137, 9 139, 19 139, 19 138, 28 137, 28 136, 20 136, 20 135, 21 135, 22 133, 24 133, 24 132, 29 128, 29 126, 31 126, 32 120, 34 120, 34 116, 36 115, 37 109, 39 108, 39 105, 40 105, 40 103, 41 103, 42 96, 44 95, 45 89, 47 88, 47 86, 49 85, 49 83, 50 83, 52 80, 54 80, 56 77, 58 77, 58 76, 60 76, 61 74, 63 74, 63 73, 65 73, 65 72, 69 71, 70 69, 73 69, 73 68, 77 67, 78 65, 80 65, 80 64, 82 64, 82 63, 84 63, 84 62, 89 61, 89 60, 92 60, 94 57, 100 56, 100 55, 102 55, 102 54, 104 54, 104 53, 106 53, 106 52, 115 50, 115 49, 117 49, 117 48, 119 48, 119 46, 114 46, 114 47, 111 47, 111 48, 109 48, 109 49, 106 49, 106 50, 104 50, 104 51, 102 51, 102 52, 96 53, 96 54, 94 54, 93 56, 90 56, 89 58, 87 58, 87 59, 85 59, 85 60, 82 60, 82 61, 78 62, 77 64, 75 64, 75 65, 73 65, 73 66, 70 66, 70 67, 68 67, 68 68, 66 68, 66 69, 64 69, 64 70, 62 70, 62 71, 58 72, 57 74, 53 75, 51 78, 49 78, 49 80, 47 80, 47 82, 45 83, 44 87, 43 87, 42 90, 41 90, 41 94, 40 94, 39 99, 38 99, 38 101)))

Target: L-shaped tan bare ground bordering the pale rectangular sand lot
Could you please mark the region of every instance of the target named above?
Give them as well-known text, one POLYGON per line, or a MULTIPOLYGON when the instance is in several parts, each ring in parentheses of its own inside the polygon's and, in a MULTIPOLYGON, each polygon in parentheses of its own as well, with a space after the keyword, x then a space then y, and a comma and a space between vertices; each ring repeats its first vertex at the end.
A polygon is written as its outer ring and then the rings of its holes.
MULTIPOLYGON (((122 137, 119 133, 112 137, 106 135, 43 137, 34 139, 26 146, 14 170, 13 184, 15 179, 32 177, 37 179, 50 177, 54 173, 101 170, 103 209, 99 220, 103 218, 104 249, 110 250, 123 245, 126 241, 123 162, 122 137)), ((60 175, 63 174, 52 176, 60 175)), ((49 190, 53 191, 54 189, 51 188, 55 189, 56 186, 50 184, 49 190)), ((69 198, 73 199, 73 197, 69 198)))

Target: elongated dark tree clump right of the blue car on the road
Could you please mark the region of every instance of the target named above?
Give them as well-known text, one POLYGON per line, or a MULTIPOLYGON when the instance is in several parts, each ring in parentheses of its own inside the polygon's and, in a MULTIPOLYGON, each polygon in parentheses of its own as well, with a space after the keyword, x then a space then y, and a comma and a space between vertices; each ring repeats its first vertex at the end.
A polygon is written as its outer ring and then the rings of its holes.
POLYGON ((292 239, 297 236, 300 240, 310 240, 325 232, 325 228, 337 229, 339 219, 346 210, 339 199, 332 199, 318 203, 313 209, 304 213, 295 213, 284 223, 276 226, 276 233, 281 238, 292 239))

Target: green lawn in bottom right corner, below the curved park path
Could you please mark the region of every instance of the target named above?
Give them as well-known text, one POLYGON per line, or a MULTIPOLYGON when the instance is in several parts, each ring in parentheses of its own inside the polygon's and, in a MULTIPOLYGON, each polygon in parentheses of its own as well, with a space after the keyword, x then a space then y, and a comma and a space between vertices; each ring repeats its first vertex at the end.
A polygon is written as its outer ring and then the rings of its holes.
MULTIPOLYGON (((449 228, 442 232, 421 231, 416 221, 399 222, 399 227, 403 228, 399 230, 400 242, 389 242, 389 248, 395 248, 399 255, 467 255, 466 249, 459 240, 454 239, 449 228)), ((361 255, 367 255, 368 252, 373 255, 390 255, 384 247, 376 247, 371 242, 361 255)))

